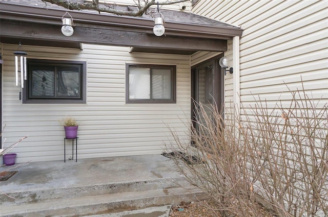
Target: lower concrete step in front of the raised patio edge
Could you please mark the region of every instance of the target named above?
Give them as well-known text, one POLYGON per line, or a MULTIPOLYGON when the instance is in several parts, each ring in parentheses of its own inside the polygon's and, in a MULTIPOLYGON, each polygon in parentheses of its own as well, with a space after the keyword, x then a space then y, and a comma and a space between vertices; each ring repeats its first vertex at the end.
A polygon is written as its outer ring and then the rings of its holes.
POLYGON ((126 191, 97 196, 48 200, 38 203, 1 206, 0 216, 81 216, 113 213, 124 210, 193 201, 204 198, 196 187, 174 187, 142 191, 126 191))

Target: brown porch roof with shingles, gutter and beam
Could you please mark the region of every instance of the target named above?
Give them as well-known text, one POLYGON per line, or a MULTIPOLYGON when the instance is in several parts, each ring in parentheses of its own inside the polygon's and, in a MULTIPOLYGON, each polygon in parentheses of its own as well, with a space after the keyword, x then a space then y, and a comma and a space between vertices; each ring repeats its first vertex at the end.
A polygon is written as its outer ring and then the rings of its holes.
POLYGON ((153 19, 117 16, 95 11, 70 11, 74 34, 60 32, 66 9, 42 0, 4 0, 0 3, 2 43, 80 48, 80 43, 130 46, 130 52, 190 55, 197 51, 227 51, 227 39, 241 36, 240 28, 192 13, 161 10, 166 36, 153 34, 153 19), (26 3, 24 3, 26 2, 26 3))

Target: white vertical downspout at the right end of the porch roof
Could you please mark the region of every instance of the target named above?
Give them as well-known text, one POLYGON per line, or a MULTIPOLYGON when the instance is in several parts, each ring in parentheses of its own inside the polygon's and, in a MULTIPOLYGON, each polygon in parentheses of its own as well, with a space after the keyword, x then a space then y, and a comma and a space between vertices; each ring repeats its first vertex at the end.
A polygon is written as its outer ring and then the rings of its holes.
POLYGON ((234 89, 234 106, 236 116, 240 114, 240 69, 239 69, 239 36, 232 38, 232 51, 233 51, 233 89, 234 89))

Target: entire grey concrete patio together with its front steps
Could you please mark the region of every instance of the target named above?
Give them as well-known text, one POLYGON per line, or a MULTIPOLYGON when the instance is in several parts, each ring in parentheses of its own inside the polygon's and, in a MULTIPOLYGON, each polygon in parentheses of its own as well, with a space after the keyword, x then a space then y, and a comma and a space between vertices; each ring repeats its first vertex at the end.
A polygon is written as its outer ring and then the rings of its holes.
POLYGON ((13 170, 18 173, 0 185, 16 200, 0 194, 0 216, 110 214, 203 196, 161 155, 30 162, 13 170))

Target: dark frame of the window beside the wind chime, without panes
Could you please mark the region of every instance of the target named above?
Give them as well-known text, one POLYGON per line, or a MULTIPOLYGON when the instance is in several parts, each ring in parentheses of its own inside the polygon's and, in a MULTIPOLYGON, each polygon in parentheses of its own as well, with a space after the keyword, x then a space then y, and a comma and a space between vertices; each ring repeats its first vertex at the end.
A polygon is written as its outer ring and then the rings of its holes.
MULTIPOLYGON (((56 78, 56 74, 55 74, 56 78)), ((45 59, 27 59, 27 80, 25 80, 23 92, 23 104, 85 104, 87 102, 87 62, 86 61, 67 61, 67 60, 45 60, 45 59), (33 66, 54 66, 54 67, 76 67, 81 70, 79 77, 79 98, 65 97, 31 97, 31 68, 33 66)))

